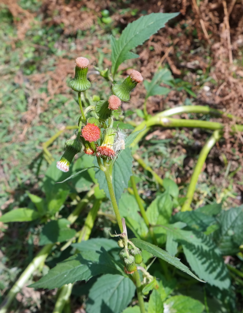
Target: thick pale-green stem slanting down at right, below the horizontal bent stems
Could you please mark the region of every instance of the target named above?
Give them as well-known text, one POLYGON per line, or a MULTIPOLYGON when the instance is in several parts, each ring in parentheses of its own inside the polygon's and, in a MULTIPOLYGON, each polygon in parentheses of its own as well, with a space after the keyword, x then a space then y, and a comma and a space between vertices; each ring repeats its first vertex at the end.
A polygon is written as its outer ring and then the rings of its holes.
POLYGON ((198 181, 198 177, 200 172, 202 171, 204 162, 209 154, 209 151, 212 149, 212 147, 215 145, 215 143, 222 137, 222 131, 216 130, 214 131, 213 135, 209 138, 209 140, 206 142, 204 147, 202 148, 199 158, 197 161, 197 164, 195 166, 194 172, 191 177, 191 181, 188 187, 187 195, 186 195, 186 201, 184 205, 182 206, 181 212, 185 211, 191 211, 191 203, 193 199, 193 195, 196 189, 196 184, 198 181))

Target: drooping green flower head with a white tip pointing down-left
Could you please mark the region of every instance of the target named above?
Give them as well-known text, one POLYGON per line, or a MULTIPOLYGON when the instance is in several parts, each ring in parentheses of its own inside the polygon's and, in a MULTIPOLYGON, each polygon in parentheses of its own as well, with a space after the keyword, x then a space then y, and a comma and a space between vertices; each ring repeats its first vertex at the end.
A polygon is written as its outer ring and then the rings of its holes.
POLYGON ((57 162, 57 168, 63 172, 68 172, 70 163, 75 154, 82 150, 82 145, 78 139, 69 139, 65 142, 64 150, 65 152, 61 157, 61 160, 57 162))

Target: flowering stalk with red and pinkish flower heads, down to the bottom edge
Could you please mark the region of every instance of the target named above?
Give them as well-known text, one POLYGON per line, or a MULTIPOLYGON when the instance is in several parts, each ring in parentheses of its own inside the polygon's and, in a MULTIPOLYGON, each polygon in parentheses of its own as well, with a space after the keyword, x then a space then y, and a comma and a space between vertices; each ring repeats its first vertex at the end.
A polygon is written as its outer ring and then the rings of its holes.
POLYGON ((142 262, 142 254, 141 250, 127 239, 125 220, 121 219, 112 185, 113 161, 119 151, 125 149, 126 139, 124 132, 113 127, 113 113, 121 106, 121 101, 130 100, 130 92, 138 83, 142 82, 143 78, 138 71, 133 69, 121 84, 112 87, 113 94, 107 100, 98 101, 96 106, 90 105, 84 110, 80 94, 91 86, 87 80, 89 60, 79 57, 75 60, 75 65, 75 77, 70 81, 69 86, 78 93, 81 115, 78 121, 78 130, 75 132, 76 138, 65 142, 65 152, 60 161, 57 162, 57 168, 63 172, 68 172, 75 154, 82 150, 88 155, 96 156, 99 168, 105 173, 111 203, 121 231, 119 245, 124 248, 120 253, 124 270, 127 274, 132 274, 131 279, 137 287, 139 306, 141 312, 144 313, 141 281, 136 265, 142 262), (90 111, 94 111, 96 117, 87 117, 87 113, 90 111), (103 128, 102 135, 101 128, 103 128), (128 249, 128 244, 132 246, 132 249, 128 249))

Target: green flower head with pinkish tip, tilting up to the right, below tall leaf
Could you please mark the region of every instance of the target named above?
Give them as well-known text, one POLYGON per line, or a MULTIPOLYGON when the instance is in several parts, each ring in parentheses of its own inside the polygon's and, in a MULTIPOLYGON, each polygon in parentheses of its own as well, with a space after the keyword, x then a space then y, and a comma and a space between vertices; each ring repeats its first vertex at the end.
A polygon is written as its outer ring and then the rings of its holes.
POLYGON ((116 84, 112 87, 112 92, 122 101, 129 101, 130 92, 142 81, 143 78, 141 73, 133 69, 130 75, 120 85, 116 84))

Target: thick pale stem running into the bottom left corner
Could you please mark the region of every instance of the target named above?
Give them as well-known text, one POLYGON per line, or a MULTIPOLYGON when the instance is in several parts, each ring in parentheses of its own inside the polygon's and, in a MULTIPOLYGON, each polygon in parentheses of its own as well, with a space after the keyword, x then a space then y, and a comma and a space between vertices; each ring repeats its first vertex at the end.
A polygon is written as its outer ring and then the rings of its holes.
POLYGON ((23 271, 20 275, 18 280, 15 282, 13 287, 9 290, 8 295, 3 300, 2 304, 0 305, 0 313, 8 312, 8 307, 15 298, 16 294, 23 288, 23 285, 28 281, 30 276, 33 272, 42 264, 44 263, 45 259, 47 258, 50 250, 54 244, 47 244, 45 245, 40 252, 36 255, 36 257, 29 263, 27 268, 23 271))

